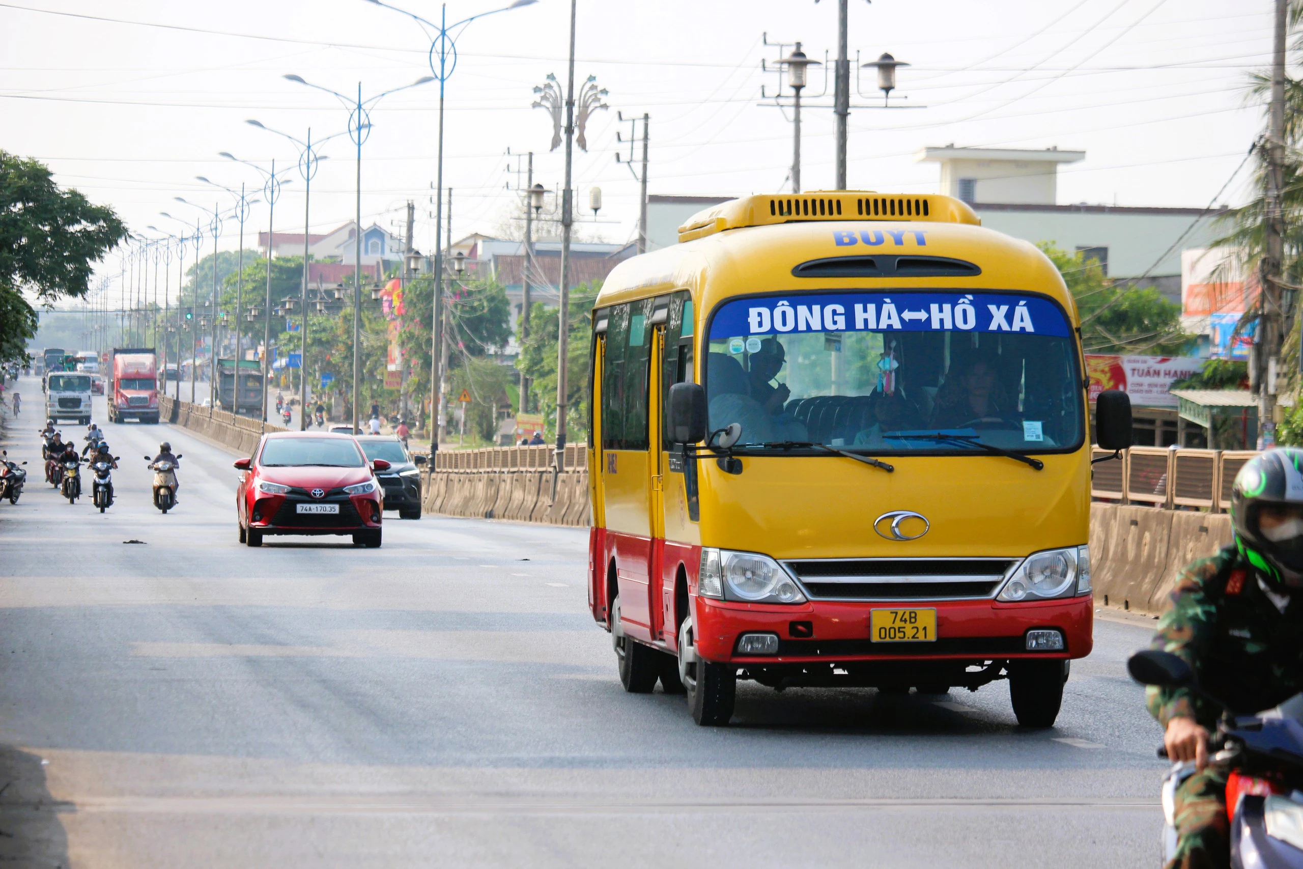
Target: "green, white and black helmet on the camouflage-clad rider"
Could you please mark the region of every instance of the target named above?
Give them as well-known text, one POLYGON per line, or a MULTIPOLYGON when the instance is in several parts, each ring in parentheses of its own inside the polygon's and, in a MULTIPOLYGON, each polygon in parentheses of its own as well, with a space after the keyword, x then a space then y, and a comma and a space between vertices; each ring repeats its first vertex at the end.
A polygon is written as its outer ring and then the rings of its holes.
POLYGON ((1269 582, 1303 588, 1303 449, 1269 449, 1246 461, 1230 516, 1240 552, 1269 582))

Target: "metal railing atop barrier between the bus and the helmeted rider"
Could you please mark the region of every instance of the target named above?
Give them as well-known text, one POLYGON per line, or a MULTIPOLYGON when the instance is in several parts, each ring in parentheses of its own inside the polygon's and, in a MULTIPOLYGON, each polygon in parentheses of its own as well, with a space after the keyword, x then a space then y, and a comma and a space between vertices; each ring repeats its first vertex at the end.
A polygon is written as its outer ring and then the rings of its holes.
MULTIPOLYGON (((1093 447, 1092 459, 1111 455, 1093 447)), ((1230 509, 1230 489, 1252 449, 1170 449, 1131 447, 1121 461, 1091 466, 1091 498, 1164 509, 1195 507, 1213 513, 1230 509)))

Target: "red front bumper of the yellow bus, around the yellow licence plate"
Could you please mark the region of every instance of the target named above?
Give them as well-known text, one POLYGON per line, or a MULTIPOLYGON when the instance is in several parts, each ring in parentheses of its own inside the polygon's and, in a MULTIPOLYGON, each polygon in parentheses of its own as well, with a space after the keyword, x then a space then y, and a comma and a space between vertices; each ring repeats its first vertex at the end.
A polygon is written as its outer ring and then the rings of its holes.
MULTIPOLYGON (((795 606, 694 598, 697 654, 717 663, 775 667, 851 662, 985 662, 1084 658, 1093 645, 1089 594, 1053 601, 810 601, 795 606), (934 608, 930 642, 874 642, 872 610, 934 608), (1062 649, 1028 649, 1028 632, 1058 631, 1062 649), (774 654, 739 654, 747 633, 778 636, 774 654)), ((1037 634, 1042 637, 1044 634, 1037 634)))

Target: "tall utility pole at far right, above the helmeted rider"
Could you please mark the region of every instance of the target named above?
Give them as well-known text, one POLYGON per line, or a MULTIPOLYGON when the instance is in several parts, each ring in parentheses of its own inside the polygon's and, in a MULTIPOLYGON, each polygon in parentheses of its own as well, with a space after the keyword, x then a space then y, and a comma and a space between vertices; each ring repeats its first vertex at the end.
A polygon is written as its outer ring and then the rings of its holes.
MULTIPOLYGON (((1276 366, 1283 339, 1281 317, 1281 262, 1285 258, 1285 36, 1287 29, 1286 0, 1276 0, 1276 29, 1272 44, 1272 102, 1267 125, 1267 202, 1264 227, 1265 255, 1261 274, 1263 315, 1259 323, 1259 347, 1255 354, 1259 388, 1257 447, 1276 443, 1276 366)), ((1303 361, 1300 361, 1303 367, 1303 361)))

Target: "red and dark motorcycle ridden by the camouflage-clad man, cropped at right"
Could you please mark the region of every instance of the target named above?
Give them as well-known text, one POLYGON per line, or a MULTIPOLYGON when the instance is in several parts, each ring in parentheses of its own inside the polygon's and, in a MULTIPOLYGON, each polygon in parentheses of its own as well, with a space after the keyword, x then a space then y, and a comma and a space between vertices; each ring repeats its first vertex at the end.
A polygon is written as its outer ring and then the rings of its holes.
MULTIPOLYGON (((1303 869, 1303 694, 1256 715, 1234 715, 1216 697, 1200 691, 1184 659, 1147 649, 1127 662, 1131 677, 1144 685, 1187 688, 1222 709, 1209 740, 1209 765, 1227 771, 1226 814, 1230 816, 1233 869, 1303 869)), ((1166 749, 1158 749, 1166 757, 1166 749)), ((1177 848, 1175 792, 1195 774, 1192 761, 1174 763, 1162 784, 1164 860, 1177 848)))

